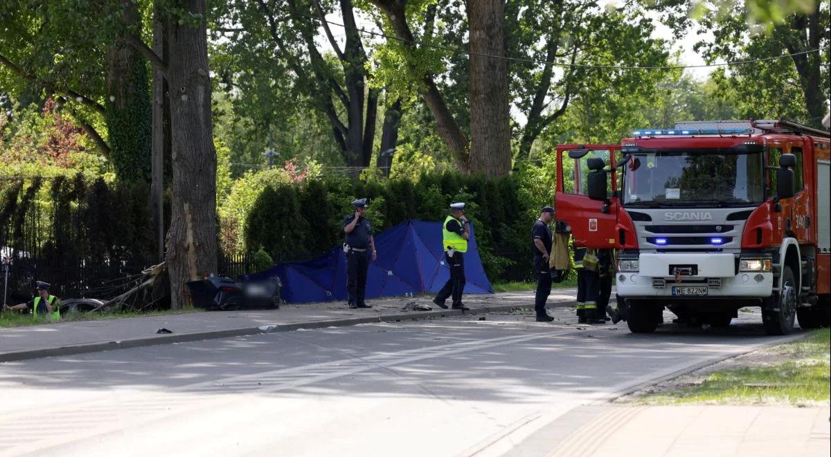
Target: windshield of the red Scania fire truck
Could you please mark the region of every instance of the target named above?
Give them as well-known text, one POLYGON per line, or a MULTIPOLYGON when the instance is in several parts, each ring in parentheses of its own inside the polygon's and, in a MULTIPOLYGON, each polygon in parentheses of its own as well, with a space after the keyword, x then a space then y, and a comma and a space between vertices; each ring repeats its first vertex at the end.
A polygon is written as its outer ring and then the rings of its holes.
POLYGON ((623 166, 627 207, 745 206, 764 201, 760 152, 649 150, 623 166))

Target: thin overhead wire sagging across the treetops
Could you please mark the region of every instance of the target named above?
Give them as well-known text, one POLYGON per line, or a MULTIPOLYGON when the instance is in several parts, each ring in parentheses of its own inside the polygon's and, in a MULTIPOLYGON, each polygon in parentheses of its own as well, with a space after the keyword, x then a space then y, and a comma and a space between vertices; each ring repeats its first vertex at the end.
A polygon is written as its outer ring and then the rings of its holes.
POLYGON ((521 61, 521 62, 525 62, 525 63, 536 63, 538 65, 564 66, 564 67, 568 67, 568 68, 597 68, 597 69, 604 69, 604 70, 681 70, 681 69, 684 69, 684 68, 710 68, 710 67, 714 67, 714 66, 745 65, 745 64, 748 64, 748 63, 756 63, 756 62, 761 62, 761 61, 774 61, 774 60, 784 59, 784 58, 787 58, 787 57, 794 57, 794 56, 801 56, 803 54, 810 54, 812 52, 821 52, 821 51, 824 51, 825 49, 829 48, 829 46, 823 46, 823 47, 818 47, 817 49, 810 49, 809 51, 794 52, 792 54, 785 54, 784 56, 762 57, 762 58, 759 58, 759 59, 750 59, 750 60, 745 60, 745 61, 729 61, 729 62, 723 62, 723 63, 711 63, 711 64, 702 64, 702 65, 673 65, 673 66, 586 65, 586 64, 579 64, 579 63, 560 63, 560 62, 556 62, 556 61, 545 61, 545 60, 539 60, 539 59, 531 59, 531 58, 527 58, 527 57, 495 56, 494 54, 488 54, 488 53, 484 53, 484 52, 470 52, 470 51, 467 51, 465 49, 460 49, 460 48, 456 48, 456 47, 441 46, 441 45, 437 45, 437 44, 420 42, 418 40, 406 40, 404 38, 387 35, 386 33, 372 32, 371 30, 366 30, 366 29, 363 29, 363 28, 351 27, 351 26, 347 26, 346 24, 342 24, 342 23, 339 23, 339 22, 332 22, 332 21, 329 21, 329 20, 326 20, 326 19, 321 19, 320 17, 312 16, 311 14, 304 14, 302 12, 294 12, 294 11, 291 11, 288 8, 284 8, 284 7, 276 7, 275 9, 286 12, 286 13, 288 13, 290 15, 293 15, 293 16, 305 17, 305 18, 312 19, 312 20, 317 21, 317 22, 326 22, 329 25, 342 27, 344 29, 349 29, 349 30, 355 30, 356 32, 361 32, 361 33, 364 33, 366 35, 371 35, 373 37, 383 37, 383 38, 386 38, 387 40, 394 40, 396 42, 409 43, 409 44, 419 45, 419 46, 423 46, 423 47, 431 47, 431 48, 434 48, 434 49, 439 49, 441 51, 467 54, 468 56, 490 57, 490 58, 494 58, 494 59, 503 59, 503 60, 506 60, 506 61, 521 61))

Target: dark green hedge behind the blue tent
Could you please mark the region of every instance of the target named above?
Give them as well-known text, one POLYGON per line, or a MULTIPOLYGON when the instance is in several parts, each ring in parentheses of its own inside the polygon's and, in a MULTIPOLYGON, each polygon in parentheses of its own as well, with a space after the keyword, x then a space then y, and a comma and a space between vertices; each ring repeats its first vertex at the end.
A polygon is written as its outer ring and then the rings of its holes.
POLYGON ((443 172, 423 174, 418 180, 281 182, 265 187, 254 202, 245 224, 245 246, 263 247, 278 263, 314 258, 341 242, 342 220, 352 213, 353 199, 370 200, 367 217, 376 231, 406 219, 444 220, 451 202, 464 201, 485 271, 489 278, 500 278, 512 263, 530 265, 531 225, 539 205, 550 202, 547 192, 538 192, 547 202, 523 198, 523 179, 522 174, 493 179, 443 172), (518 260, 499 253, 519 254, 514 255, 518 260), (527 260, 523 253, 528 253, 527 260))

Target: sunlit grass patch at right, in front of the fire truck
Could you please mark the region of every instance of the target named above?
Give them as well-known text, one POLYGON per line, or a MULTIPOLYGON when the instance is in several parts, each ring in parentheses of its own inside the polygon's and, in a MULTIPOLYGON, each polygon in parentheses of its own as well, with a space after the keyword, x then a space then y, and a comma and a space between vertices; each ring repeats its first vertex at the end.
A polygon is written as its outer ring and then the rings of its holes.
POLYGON ((770 363, 713 371, 700 382, 640 396, 646 404, 806 405, 829 400, 829 329, 760 350, 770 363))

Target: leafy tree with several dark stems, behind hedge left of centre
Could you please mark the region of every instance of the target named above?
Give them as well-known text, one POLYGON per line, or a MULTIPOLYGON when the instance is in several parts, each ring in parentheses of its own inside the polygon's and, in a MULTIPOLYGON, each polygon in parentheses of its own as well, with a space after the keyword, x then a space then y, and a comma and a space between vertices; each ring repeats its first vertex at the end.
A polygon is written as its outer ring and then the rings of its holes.
MULTIPOLYGON (((293 93, 295 108, 297 100, 309 101, 308 107, 326 116, 344 162, 354 167, 370 164, 380 90, 369 85, 364 37, 356 27, 352 0, 240 0, 218 6, 214 15, 218 48, 234 56, 219 69, 226 89, 242 88, 240 98, 251 96, 248 89, 255 87, 255 93, 269 98, 293 93), (337 31, 342 44, 326 22, 332 12, 346 26, 337 31), (332 48, 331 57, 318 49, 319 28, 320 38, 332 48), (220 34, 232 42, 222 43, 220 34)), ((275 108, 262 106, 257 117, 268 124, 281 123, 283 113, 275 108)), ((265 127, 270 131, 270 125, 265 127)))

